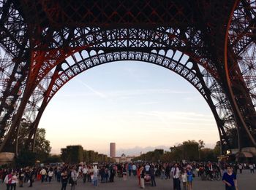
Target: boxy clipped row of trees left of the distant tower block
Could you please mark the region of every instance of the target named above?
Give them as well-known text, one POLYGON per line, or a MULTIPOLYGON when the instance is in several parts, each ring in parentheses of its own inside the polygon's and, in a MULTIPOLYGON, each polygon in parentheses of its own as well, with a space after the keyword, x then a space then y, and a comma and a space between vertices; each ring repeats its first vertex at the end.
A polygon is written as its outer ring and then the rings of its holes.
POLYGON ((67 146, 61 149, 61 159, 63 162, 69 164, 76 164, 79 162, 111 162, 113 161, 105 154, 99 154, 97 151, 83 150, 83 146, 67 146))

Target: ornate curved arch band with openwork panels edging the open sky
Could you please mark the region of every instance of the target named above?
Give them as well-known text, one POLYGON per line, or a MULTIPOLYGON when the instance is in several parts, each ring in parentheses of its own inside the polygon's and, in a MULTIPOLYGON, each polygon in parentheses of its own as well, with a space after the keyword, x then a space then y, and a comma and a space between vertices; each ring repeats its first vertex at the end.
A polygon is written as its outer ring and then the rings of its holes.
MULTIPOLYGON (((39 114, 37 115, 37 119, 34 122, 34 131, 37 129, 43 111, 50 102, 51 98, 53 98, 56 92, 58 92, 61 87, 64 86, 64 84, 69 82, 69 80, 78 74, 87 71, 89 68, 120 60, 139 60, 152 63, 157 66, 167 68, 179 76, 182 76, 187 80, 187 82, 192 84, 192 86, 194 86, 198 92, 200 92, 200 94, 208 103, 208 106, 211 108, 217 125, 219 126, 220 124, 220 119, 214 103, 208 93, 206 93, 208 88, 206 87, 206 84, 203 80, 203 74, 201 73, 200 68, 198 67, 197 63, 193 62, 187 55, 179 52, 178 50, 152 50, 151 52, 101 51, 92 53, 86 50, 82 50, 80 52, 76 52, 75 54, 71 55, 69 58, 65 59, 62 63, 56 66, 48 90, 45 92, 45 98, 39 110, 39 114)), ((220 138, 223 139, 223 134, 225 134, 225 131, 221 130, 219 127, 218 131, 220 138)), ((32 137, 33 134, 31 133, 30 136, 32 137)))

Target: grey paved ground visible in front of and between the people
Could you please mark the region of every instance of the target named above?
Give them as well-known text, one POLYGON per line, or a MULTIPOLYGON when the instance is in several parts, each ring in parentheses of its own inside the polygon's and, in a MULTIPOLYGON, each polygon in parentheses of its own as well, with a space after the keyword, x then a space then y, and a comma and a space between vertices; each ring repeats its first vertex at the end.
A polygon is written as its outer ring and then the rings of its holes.
MULTIPOLYGON (((159 178, 156 179, 157 186, 151 187, 150 184, 146 184, 146 189, 159 189, 159 190, 172 190, 173 181, 170 179, 161 180, 159 178)), ((222 181, 200 181, 199 178, 195 178, 193 182, 193 189, 194 190, 224 190, 225 187, 222 181)), ((23 188, 17 189, 31 189, 27 187, 28 185, 25 184, 23 188)), ((243 174, 238 174, 238 188, 239 190, 256 190, 256 173, 250 174, 248 171, 244 171, 243 174)), ((4 184, 0 184, 0 190, 6 189, 4 184)), ((52 183, 40 183, 36 181, 34 183, 34 187, 32 189, 36 190, 58 190, 61 189, 61 184, 53 181, 52 183)), ((67 190, 70 189, 70 186, 67 186, 67 190)), ((130 177, 127 178, 127 181, 122 181, 121 178, 115 178, 114 183, 99 183, 99 186, 96 188, 91 185, 91 183, 83 184, 82 181, 78 181, 78 186, 75 187, 75 190, 82 190, 82 189, 102 189, 102 190, 128 190, 128 189, 139 189, 137 186, 137 178, 130 177)))

